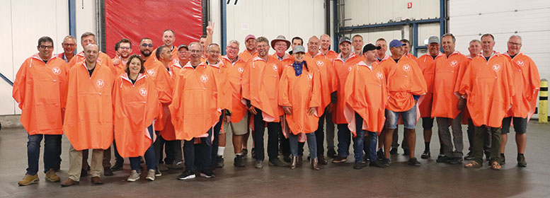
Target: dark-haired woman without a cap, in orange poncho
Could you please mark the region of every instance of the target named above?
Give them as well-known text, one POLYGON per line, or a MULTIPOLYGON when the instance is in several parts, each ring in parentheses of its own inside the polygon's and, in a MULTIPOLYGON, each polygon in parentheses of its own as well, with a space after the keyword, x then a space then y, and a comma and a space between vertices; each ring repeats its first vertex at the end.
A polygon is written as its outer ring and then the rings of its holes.
POLYGON ((143 74, 144 70, 143 59, 133 54, 113 87, 115 141, 120 156, 130 158, 132 173, 128 182, 139 179, 139 156, 147 162, 147 180, 155 180, 153 123, 159 116, 160 102, 154 81, 143 74))

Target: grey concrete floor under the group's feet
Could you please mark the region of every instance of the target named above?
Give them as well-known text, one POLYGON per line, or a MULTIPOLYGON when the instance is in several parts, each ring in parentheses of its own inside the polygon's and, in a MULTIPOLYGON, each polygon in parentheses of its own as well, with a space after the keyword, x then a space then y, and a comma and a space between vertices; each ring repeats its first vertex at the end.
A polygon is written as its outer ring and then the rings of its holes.
MULTIPOLYGON (((420 126, 417 124, 418 156, 424 147, 420 126)), ((47 182, 42 171, 38 184, 18 187, 17 182, 27 167, 27 133, 24 129, 3 129, 0 132, 0 197, 550 197, 550 125, 530 122, 527 129, 527 168, 515 165, 513 132, 506 149, 508 163, 500 171, 490 170, 487 163, 474 170, 435 163, 434 156, 439 152, 437 133, 432 136, 432 159, 420 159, 420 167, 406 165, 407 158, 401 155, 400 148, 399 155, 391 156, 389 168, 362 170, 352 168, 353 156, 344 165, 322 165, 320 171, 311 170, 307 161, 295 170, 270 167, 267 163, 258 170, 253 168, 250 157, 246 159, 246 168, 234 168, 233 148, 228 138, 225 167, 215 171, 214 179, 197 177, 180 181, 176 177, 181 170, 168 170, 154 182, 144 180, 144 175, 137 182, 125 182, 130 174, 126 160, 125 170, 102 177, 104 185, 91 185, 89 177, 84 177, 80 185, 63 188, 59 182, 47 182)), ((467 149, 465 126, 463 130, 467 149)), ((62 170, 58 173, 62 180, 67 179, 68 151, 69 141, 64 137, 62 170)), ((40 159, 42 168, 42 157, 40 159)))

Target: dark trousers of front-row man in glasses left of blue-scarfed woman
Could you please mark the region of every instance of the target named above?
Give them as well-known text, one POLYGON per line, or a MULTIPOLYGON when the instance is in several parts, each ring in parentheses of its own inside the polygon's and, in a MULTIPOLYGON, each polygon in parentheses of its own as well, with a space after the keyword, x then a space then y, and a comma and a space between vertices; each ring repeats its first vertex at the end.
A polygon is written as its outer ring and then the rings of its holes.
MULTIPOLYGON (((265 158, 263 148, 265 121, 263 121, 262 111, 258 108, 256 108, 256 111, 258 114, 254 115, 254 151, 256 153, 256 160, 263 161, 265 158)), ((279 146, 280 128, 281 125, 279 122, 268 122, 268 156, 270 161, 277 159, 279 155, 277 148, 279 146)))

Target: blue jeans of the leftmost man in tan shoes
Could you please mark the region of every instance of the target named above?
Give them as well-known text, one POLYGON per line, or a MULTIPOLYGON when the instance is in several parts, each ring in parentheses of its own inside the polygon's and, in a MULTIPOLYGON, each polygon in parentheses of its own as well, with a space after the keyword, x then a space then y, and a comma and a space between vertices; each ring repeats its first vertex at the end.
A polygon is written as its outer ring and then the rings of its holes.
POLYGON ((44 138, 44 173, 50 168, 55 169, 59 165, 60 154, 57 148, 61 145, 62 135, 28 135, 27 142, 27 174, 38 173, 38 160, 40 158, 40 142, 44 138))

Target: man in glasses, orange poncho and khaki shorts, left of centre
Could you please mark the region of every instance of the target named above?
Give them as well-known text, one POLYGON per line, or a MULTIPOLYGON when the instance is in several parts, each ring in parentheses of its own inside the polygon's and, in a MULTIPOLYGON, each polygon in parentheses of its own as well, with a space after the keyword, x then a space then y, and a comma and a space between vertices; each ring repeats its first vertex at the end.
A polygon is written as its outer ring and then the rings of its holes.
POLYGON ((233 134, 232 140, 235 153, 233 165, 236 167, 244 167, 243 141, 244 134, 248 133, 249 115, 246 105, 241 103, 241 84, 246 62, 238 56, 238 41, 230 40, 225 51, 227 55, 222 57, 222 62, 227 68, 227 81, 231 86, 231 95, 229 96, 231 97, 231 122, 224 124, 224 129, 226 132, 231 131, 233 134))

